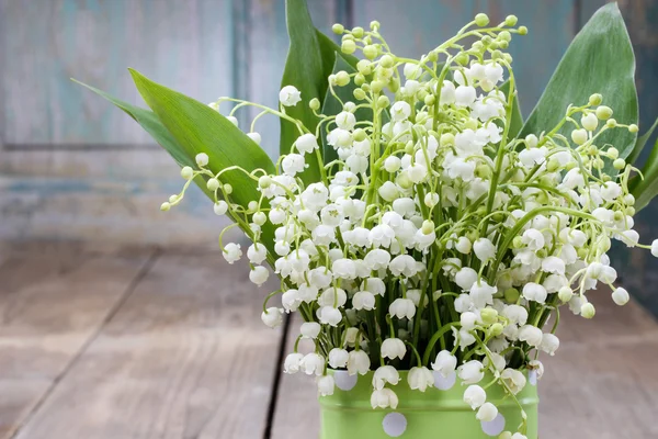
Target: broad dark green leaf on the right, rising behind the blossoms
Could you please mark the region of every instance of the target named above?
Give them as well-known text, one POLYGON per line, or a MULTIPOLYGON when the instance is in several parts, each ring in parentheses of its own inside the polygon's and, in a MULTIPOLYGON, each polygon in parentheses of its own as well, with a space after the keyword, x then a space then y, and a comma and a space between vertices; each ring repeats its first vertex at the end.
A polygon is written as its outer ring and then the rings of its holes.
MULTIPOLYGON (((616 3, 609 3, 594 13, 571 42, 521 136, 553 130, 569 104, 583 105, 592 93, 603 95, 603 103, 614 110, 614 117, 620 123, 637 123, 634 75, 635 56, 624 19, 616 3)), ((568 137, 570 126, 565 124, 560 134, 568 137)), ((636 137, 637 134, 627 130, 610 130, 598 145, 613 145, 620 157, 625 158, 636 137)), ((610 164, 604 170, 608 173, 614 171, 610 164)))

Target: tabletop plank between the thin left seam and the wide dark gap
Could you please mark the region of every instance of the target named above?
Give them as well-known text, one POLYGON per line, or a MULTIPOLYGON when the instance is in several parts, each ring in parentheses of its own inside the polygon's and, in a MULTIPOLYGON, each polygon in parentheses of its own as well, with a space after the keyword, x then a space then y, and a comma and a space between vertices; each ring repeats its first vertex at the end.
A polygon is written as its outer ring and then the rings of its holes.
POLYGON ((266 291, 218 254, 162 256, 16 439, 261 437, 266 291))

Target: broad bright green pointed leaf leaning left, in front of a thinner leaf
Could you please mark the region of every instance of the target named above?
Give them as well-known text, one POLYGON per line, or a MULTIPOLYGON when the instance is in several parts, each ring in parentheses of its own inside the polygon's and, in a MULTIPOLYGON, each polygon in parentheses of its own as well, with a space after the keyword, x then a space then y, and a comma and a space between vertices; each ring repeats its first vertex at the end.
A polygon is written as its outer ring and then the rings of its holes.
MULTIPOLYGON (((207 167, 214 173, 234 166, 247 172, 256 169, 275 172, 274 164, 260 146, 217 111, 154 82, 136 70, 131 69, 131 75, 148 106, 188 156, 207 154, 207 167)), ((258 182, 242 171, 226 171, 220 180, 232 185, 231 201, 243 207, 261 196, 258 182)), ((262 240, 269 249, 273 248, 273 226, 263 225, 262 240)))

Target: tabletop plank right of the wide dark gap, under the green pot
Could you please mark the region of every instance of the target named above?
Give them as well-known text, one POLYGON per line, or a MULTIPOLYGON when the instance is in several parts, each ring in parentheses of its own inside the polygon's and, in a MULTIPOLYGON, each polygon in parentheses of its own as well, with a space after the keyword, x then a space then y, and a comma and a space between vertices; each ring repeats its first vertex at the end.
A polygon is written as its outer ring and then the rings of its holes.
MULTIPOLYGON (((542 358, 540 431, 543 438, 658 437, 658 323, 637 303, 619 307, 608 292, 593 293, 593 320, 563 313, 555 357, 542 358)), ((292 351, 299 319, 293 324, 292 351)), ((284 375, 273 439, 315 437, 319 431, 316 386, 306 375, 284 375)))

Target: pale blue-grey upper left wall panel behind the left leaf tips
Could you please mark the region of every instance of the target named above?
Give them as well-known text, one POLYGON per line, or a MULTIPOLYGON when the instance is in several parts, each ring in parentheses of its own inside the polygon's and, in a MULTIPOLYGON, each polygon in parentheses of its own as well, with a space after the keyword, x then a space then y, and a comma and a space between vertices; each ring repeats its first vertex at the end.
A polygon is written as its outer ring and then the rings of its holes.
POLYGON ((0 1, 5 144, 152 143, 70 77, 140 104, 127 67, 202 101, 231 92, 229 1, 0 1))

